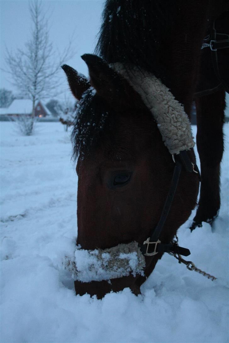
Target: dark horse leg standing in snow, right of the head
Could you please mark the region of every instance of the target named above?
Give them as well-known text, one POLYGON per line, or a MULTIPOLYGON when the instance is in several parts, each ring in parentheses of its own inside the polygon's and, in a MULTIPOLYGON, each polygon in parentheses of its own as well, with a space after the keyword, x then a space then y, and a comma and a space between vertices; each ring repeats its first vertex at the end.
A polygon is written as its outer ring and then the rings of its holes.
POLYGON ((191 231, 202 222, 213 223, 220 208, 220 162, 224 151, 225 91, 196 98, 196 143, 201 162, 201 190, 191 231))

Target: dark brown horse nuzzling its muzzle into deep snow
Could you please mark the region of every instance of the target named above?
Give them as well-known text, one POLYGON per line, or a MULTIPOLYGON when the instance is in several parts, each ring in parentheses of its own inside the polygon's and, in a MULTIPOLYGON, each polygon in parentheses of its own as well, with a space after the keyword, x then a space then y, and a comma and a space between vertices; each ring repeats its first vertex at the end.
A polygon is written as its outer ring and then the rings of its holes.
MULTIPOLYGON (((171 242, 196 207, 199 189, 188 118, 201 48, 208 26, 227 10, 222 0, 107 0, 95 55, 82 56, 90 81, 62 66, 79 100, 72 131, 81 253, 75 256, 84 262, 86 252, 93 261, 105 256, 107 270, 111 256, 114 266, 133 256, 135 242, 144 257, 141 272, 94 279, 69 260, 76 294, 102 298, 129 287, 138 295, 163 253, 178 248, 171 242), (113 249, 130 255, 112 255, 113 249)), ((202 186, 192 229, 212 223, 220 206, 225 91, 196 98, 196 107, 202 186)))

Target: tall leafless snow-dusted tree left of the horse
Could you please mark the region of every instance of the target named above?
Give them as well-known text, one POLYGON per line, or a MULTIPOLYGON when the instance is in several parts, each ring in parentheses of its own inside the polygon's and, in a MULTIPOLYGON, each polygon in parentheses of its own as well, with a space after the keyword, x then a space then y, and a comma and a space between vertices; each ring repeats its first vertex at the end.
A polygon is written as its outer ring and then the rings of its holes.
POLYGON ((58 93, 58 71, 64 61, 71 58, 71 42, 58 54, 49 41, 48 22, 42 3, 34 0, 30 4, 30 15, 33 24, 31 38, 24 49, 17 49, 12 54, 6 49, 6 70, 12 83, 18 88, 23 98, 32 100, 32 119, 35 115, 35 103, 39 99, 56 96, 58 93))

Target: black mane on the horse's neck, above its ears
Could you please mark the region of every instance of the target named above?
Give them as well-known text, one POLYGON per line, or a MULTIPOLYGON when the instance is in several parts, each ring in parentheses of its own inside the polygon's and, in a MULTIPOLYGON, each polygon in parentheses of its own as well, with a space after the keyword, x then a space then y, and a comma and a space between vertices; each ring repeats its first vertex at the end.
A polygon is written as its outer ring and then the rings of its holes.
POLYGON ((170 0, 106 1, 95 54, 107 63, 144 68, 168 84, 162 47, 171 31, 175 8, 170 0))

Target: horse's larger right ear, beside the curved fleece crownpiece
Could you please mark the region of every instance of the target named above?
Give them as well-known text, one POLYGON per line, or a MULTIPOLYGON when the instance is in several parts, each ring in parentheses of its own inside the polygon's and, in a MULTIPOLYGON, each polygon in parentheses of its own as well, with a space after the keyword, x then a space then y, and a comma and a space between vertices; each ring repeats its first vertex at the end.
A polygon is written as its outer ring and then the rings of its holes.
POLYGON ((133 99, 139 100, 139 95, 130 84, 100 57, 85 54, 81 58, 87 63, 91 85, 108 103, 129 107, 133 105, 133 99))

